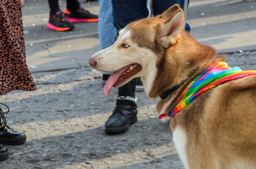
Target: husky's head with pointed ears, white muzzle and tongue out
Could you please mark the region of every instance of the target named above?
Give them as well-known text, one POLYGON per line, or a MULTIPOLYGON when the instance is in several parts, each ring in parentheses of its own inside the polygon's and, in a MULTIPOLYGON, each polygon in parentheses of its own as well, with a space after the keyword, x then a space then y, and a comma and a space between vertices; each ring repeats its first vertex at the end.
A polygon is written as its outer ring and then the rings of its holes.
MULTIPOLYGON (((159 16, 135 21, 120 30, 119 37, 112 46, 89 59, 93 68, 113 72, 105 85, 104 93, 108 95, 112 86, 119 87, 135 77, 141 77, 149 97, 156 97, 158 93, 149 92, 154 91, 153 84, 159 81, 156 77, 165 67, 163 57, 166 49, 177 46, 183 28, 183 10, 174 5, 159 16)), ((172 52, 176 52, 176 49, 168 53, 172 52)))

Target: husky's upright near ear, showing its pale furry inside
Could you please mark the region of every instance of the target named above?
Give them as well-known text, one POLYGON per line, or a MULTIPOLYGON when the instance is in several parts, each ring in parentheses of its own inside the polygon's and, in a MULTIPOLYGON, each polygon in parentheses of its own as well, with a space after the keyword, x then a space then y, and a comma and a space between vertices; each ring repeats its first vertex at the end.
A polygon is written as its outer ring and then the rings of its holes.
POLYGON ((180 8, 172 17, 158 25, 156 38, 165 47, 175 44, 180 32, 184 29, 184 13, 180 8))

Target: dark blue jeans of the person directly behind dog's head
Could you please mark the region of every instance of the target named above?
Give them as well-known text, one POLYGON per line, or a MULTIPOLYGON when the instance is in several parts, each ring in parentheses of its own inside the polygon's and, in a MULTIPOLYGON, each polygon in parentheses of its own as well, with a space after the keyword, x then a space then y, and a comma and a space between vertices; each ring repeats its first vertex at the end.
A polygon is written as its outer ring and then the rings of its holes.
MULTIPOLYGON (((153 15, 160 15, 175 4, 184 8, 184 0, 153 0, 153 15)), ((112 10, 117 30, 124 28, 132 21, 148 16, 147 0, 112 0, 112 10)))

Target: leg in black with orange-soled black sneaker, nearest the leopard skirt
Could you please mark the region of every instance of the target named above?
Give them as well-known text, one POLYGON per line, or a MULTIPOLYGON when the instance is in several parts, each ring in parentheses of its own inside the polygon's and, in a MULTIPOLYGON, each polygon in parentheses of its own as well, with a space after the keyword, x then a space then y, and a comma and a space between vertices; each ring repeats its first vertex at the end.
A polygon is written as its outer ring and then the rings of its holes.
POLYGON ((63 12, 59 8, 58 0, 48 0, 50 7, 50 16, 47 28, 55 31, 67 31, 75 27, 75 25, 69 22, 63 12))

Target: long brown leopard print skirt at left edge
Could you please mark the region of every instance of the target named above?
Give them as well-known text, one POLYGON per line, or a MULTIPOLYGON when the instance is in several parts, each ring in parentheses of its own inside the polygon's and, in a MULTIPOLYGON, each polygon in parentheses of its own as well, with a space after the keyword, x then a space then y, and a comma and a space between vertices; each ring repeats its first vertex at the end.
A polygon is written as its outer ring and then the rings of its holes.
POLYGON ((0 0, 0 95, 12 90, 36 85, 26 64, 20 0, 0 0))

